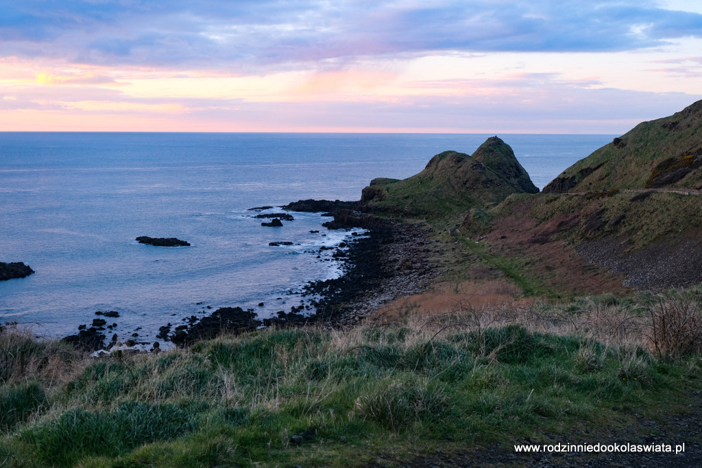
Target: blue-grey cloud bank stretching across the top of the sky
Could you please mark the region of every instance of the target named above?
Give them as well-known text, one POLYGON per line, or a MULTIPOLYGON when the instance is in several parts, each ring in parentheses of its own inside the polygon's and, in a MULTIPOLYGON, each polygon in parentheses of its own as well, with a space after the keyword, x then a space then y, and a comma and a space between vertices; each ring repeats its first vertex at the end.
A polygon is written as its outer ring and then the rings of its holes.
POLYGON ((702 36, 702 15, 649 0, 24 0, 4 56, 249 72, 437 51, 626 51, 702 36))

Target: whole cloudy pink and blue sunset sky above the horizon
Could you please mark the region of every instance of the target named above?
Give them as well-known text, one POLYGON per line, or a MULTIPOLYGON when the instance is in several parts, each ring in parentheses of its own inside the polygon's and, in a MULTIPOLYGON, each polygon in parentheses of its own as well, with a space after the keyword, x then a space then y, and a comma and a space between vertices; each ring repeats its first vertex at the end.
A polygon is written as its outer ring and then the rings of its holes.
POLYGON ((621 134, 699 0, 0 0, 0 131, 621 134))

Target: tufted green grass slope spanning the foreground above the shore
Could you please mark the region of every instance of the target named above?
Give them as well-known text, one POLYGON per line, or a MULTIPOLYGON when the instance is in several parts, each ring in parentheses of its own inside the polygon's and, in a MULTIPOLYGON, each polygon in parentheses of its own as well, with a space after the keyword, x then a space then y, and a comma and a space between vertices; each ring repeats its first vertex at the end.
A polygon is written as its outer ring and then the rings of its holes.
MULTIPOLYGON (((616 300, 614 300, 616 302, 616 300)), ((574 305, 574 311, 578 310, 574 305)), ((574 312, 577 313, 577 312, 574 312)), ((684 399, 699 359, 656 361, 518 324, 260 330, 95 359, 58 388, 4 382, 10 466, 362 466, 495 447, 684 399), (618 408, 618 409, 617 409, 618 408), (291 436, 308 431, 296 444, 291 436), (404 454, 404 455, 403 455, 404 454)))

